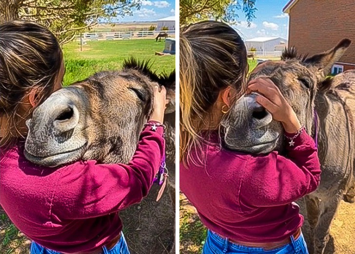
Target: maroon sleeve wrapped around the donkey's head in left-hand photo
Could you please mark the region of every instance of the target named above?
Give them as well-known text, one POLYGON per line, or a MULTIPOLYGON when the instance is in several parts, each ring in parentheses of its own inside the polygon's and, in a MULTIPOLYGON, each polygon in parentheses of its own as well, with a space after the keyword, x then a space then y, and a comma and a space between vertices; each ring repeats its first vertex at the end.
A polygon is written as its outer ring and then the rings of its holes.
POLYGON ((63 219, 80 219, 107 215, 139 203, 153 184, 164 150, 163 128, 153 131, 152 126, 146 126, 127 165, 89 160, 59 169, 52 213, 63 219))

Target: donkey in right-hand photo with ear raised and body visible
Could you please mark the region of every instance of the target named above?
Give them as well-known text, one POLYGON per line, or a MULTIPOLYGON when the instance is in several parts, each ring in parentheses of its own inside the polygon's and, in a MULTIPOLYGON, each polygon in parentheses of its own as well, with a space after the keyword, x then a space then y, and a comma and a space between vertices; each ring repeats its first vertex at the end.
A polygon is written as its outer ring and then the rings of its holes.
MULTIPOLYGON (((297 201, 306 219, 303 233, 314 254, 324 253, 340 200, 354 200, 355 72, 326 78, 350 44, 344 39, 335 48, 312 57, 297 56, 292 48, 283 52, 281 61, 263 62, 249 76, 249 80, 270 78, 308 133, 313 137, 318 134, 320 186, 297 201)), ((223 120, 224 145, 248 153, 284 153, 281 124, 255 98, 251 94, 238 100, 223 120)))

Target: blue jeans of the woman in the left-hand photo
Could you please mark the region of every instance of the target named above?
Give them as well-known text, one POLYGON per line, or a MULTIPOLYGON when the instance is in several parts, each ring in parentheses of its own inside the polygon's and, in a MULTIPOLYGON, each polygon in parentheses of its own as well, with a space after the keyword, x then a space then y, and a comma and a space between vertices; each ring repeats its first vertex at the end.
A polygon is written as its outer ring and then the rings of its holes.
MULTIPOLYGON (((48 250, 40 246, 36 242, 31 243, 30 253, 31 254, 60 254, 59 252, 48 250)), ((123 233, 121 234, 121 238, 119 239, 118 243, 111 250, 107 250, 106 247, 102 247, 102 254, 130 254, 123 233)))

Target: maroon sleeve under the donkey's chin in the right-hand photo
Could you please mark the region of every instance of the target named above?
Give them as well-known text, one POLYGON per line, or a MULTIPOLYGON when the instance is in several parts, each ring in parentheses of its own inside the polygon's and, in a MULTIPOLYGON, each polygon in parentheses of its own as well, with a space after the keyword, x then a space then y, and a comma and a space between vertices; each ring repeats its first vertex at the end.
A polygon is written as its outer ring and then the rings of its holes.
POLYGON ((320 181, 317 148, 305 130, 287 143, 287 157, 277 152, 250 156, 240 186, 240 201, 253 207, 289 204, 316 190, 320 181))

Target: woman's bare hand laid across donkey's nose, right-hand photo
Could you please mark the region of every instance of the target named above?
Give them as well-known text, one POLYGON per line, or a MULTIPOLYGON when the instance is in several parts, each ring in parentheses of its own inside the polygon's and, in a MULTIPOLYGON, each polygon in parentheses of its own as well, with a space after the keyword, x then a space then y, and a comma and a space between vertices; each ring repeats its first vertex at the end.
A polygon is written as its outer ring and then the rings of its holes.
POLYGON ((298 117, 280 90, 269 78, 256 78, 249 82, 247 93, 256 92, 256 101, 280 121, 288 133, 296 133, 300 128, 298 117))

